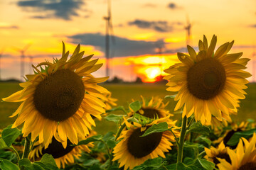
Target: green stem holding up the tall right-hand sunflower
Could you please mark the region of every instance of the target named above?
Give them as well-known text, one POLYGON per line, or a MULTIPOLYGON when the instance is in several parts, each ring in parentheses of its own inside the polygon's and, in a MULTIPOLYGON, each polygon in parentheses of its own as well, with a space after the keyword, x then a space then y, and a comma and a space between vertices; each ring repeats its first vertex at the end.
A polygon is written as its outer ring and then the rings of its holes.
POLYGON ((178 145, 178 157, 177 157, 177 163, 182 162, 182 156, 183 156, 183 144, 185 140, 186 135, 186 125, 187 125, 187 118, 186 115, 182 119, 182 127, 181 127, 181 137, 179 139, 179 145, 178 145))

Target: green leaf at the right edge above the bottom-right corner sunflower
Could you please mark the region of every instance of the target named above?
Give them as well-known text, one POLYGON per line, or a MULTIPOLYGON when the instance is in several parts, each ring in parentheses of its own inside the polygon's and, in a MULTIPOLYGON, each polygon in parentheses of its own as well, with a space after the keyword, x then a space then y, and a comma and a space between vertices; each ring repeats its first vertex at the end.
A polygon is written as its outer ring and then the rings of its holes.
POLYGON ((232 137, 230 137, 230 140, 228 140, 227 145, 235 146, 238 144, 240 137, 245 137, 246 139, 252 137, 253 133, 256 133, 256 128, 252 130, 246 130, 242 132, 235 132, 232 137))

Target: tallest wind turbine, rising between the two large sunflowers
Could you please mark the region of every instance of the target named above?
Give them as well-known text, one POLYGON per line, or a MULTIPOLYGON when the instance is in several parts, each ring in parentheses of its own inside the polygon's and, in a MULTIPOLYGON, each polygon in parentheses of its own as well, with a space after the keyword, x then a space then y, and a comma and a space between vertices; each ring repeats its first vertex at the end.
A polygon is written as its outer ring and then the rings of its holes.
POLYGON ((110 0, 107 0, 107 16, 103 17, 106 21, 106 35, 105 35, 105 58, 106 58, 106 76, 110 76, 110 36, 113 44, 115 43, 113 36, 112 16, 111 16, 111 4, 110 0))

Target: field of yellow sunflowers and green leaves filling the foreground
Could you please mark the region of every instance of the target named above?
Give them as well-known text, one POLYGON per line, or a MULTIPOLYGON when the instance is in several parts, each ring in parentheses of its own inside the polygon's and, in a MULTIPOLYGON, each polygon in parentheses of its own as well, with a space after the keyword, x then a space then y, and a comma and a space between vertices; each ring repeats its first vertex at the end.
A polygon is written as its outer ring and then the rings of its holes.
POLYGON ((2 98, 15 111, 1 120, 0 169, 256 169, 256 98, 243 102, 255 85, 233 43, 215 49, 217 37, 203 36, 164 70, 166 87, 134 93, 102 84, 108 77, 92 75, 102 64, 63 42, 60 59, 33 66, 2 98))

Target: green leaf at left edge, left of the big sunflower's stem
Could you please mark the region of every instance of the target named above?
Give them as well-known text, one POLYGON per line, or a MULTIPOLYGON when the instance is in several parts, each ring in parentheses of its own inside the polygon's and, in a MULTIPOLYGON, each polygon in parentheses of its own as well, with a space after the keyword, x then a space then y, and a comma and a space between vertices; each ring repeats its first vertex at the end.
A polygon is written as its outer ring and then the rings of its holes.
POLYGON ((11 126, 12 125, 7 126, 2 132, 2 138, 8 147, 11 146, 19 135, 21 135, 21 130, 18 128, 11 128, 11 126))

